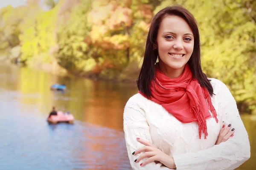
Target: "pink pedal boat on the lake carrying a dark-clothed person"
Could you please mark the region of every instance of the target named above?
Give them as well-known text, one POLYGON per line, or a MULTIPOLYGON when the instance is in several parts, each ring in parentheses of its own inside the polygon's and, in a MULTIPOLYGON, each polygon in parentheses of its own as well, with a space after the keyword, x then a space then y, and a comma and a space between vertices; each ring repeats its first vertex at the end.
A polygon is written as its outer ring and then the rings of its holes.
POLYGON ((74 116, 70 113, 64 114, 63 111, 57 111, 57 115, 50 115, 47 117, 47 122, 56 124, 58 122, 74 123, 74 116))

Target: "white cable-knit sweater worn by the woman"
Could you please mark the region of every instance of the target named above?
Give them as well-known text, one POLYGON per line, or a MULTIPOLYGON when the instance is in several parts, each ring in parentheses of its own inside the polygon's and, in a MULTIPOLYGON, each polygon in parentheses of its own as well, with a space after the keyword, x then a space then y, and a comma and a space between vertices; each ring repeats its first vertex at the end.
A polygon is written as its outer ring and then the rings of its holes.
POLYGON ((250 144, 241 121, 236 101, 227 86, 211 79, 212 104, 219 122, 207 119, 207 139, 198 136, 198 123, 181 123, 161 105, 141 94, 132 96, 124 110, 124 132, 128 156, 133 170, 169 170, 161 163, 151 162, 143 167, 134 162, 142 153, 132 153, 143 144, 136 138, 148 140, 174 158, 177 170, 233 170, 250 158, 250 144), (232 125, 234 136, 215 145, 222 125, 232 125))

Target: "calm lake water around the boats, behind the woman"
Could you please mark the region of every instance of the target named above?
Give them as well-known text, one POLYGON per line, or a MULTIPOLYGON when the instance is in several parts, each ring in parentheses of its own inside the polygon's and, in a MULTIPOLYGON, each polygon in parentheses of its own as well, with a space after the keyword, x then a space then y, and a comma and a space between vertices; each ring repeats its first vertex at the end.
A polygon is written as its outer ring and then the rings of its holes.
MULTIPOLYGON (((135 85, 0 65, 0 170, 131 170, 122 113, 135 93, 135 85), (50 91, 54 83, 65 83, 67 91, 50 91), (49 125, 52 106, 70 111, 74 125, 49 125)), ((253 170, 256 119, 242 119, 252 149, 237 170, 253 170)))

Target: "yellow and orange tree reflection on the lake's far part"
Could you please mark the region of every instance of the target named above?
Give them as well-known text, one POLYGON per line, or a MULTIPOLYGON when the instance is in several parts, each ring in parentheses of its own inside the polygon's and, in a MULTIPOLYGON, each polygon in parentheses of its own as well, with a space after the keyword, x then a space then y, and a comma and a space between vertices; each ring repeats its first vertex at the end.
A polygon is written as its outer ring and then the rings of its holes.
POLYGON ((137 92, 134 85, 95 82, 89 79, 52 76, 43 71, 1 65, 0 87, 17 91, 18 100, 34 105, 45 116, 54 105, 70 111, 75 118, 122 131, 122 113, 127 99, 137 92), (54 83, 65 83, 67 91, 50 91, 54 83))

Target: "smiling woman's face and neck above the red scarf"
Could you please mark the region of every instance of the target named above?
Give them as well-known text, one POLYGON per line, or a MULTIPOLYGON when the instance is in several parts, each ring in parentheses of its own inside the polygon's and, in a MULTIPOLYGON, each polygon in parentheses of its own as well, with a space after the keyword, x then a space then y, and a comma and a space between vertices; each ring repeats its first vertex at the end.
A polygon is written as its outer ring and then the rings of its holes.
POLYGON ((171 78, 182 74, 194 48, 194 37, 186 21, 178 16, 164 17, 157 33, 159 66, 171 78))

